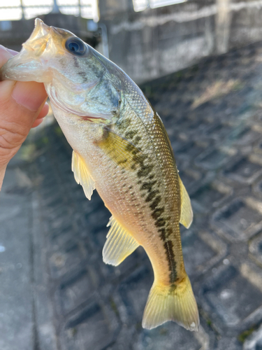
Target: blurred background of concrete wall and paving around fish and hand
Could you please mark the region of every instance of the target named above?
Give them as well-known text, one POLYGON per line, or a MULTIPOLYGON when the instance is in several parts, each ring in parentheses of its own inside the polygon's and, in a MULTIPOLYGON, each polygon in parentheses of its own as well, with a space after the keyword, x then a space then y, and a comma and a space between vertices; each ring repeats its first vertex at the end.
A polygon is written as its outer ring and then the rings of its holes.
POLYGON ((34 18, 119 65, 161 116, 191 197, 184 262, 201 316, 143 330, 153 281, 139 247, 103 264, 110 213, 71 172, 52 110, 0 199, 1 350, 262 349, 262 0, 0 0, 0 44, 34 18))

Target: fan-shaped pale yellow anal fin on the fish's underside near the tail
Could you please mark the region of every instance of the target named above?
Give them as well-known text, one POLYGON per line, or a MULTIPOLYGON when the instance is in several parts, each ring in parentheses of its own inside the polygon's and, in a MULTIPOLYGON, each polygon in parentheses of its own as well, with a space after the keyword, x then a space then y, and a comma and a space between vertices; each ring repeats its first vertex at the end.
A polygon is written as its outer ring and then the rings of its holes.
POLYGON ((133 253, 139 244, 113 216, 111 216, 107 226, 111 226, 111 228, 103 246, 103 262, 117 266, 133 253))

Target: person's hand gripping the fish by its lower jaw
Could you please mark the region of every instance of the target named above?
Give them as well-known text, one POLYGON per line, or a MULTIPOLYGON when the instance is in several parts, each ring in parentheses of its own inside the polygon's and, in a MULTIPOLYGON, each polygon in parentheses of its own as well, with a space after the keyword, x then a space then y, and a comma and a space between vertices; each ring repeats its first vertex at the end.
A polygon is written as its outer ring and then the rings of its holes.
MULTIPOLYGON (((16 54, 0 45, 0 68, 16 54)), ((0 190, 8 162, 48 114, 47 98, 43 83, 0 81, 0 190)))

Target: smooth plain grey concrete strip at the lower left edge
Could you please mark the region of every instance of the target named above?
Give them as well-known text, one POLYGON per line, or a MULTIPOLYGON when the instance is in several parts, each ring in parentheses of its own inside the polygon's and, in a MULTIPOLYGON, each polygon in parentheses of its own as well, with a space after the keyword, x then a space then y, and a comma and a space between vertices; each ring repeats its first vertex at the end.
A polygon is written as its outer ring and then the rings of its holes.
POLYGON ((6 193, 6 187, 17 185, 10 174, 0 204, 0 349, 27 350, 34 346, 31 197, 6 193))

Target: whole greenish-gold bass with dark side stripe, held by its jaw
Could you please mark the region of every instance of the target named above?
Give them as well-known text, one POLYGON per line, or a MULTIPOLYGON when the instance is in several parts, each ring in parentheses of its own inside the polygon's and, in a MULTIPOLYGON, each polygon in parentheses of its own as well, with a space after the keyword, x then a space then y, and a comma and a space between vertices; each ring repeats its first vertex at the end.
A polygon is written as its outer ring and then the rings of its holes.
POLYGON ((73 148, 72 170, 90 200, 112 214, 103 261, 117 266, 142 246, 154 271, 143 328, 175 321, 198 330, 196 299, 184 268, 180 223, 193 211, 165 127, 143 92, 116 64, 70 31, 36 19, 1 80, 44 83, 73 148))

